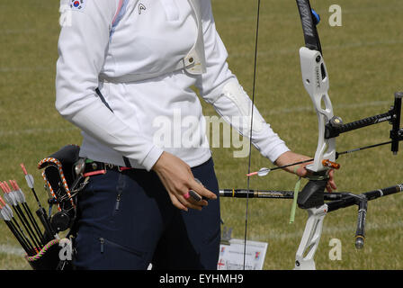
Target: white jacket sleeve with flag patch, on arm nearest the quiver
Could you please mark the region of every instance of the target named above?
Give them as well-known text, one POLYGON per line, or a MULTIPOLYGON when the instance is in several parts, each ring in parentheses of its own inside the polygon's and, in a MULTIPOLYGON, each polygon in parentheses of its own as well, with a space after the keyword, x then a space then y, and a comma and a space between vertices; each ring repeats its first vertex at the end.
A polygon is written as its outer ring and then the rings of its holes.
MULTIPOLYGON (((56 108, 81 130, 150 170, 162 154, 111 112, 95 93, 118 0, 86 0, 72 8, 58 40, 56 108)), ((70 3, 70 1, 65 1, 70 3)), ((63 4, 63 1, 62 1, 63 4)))

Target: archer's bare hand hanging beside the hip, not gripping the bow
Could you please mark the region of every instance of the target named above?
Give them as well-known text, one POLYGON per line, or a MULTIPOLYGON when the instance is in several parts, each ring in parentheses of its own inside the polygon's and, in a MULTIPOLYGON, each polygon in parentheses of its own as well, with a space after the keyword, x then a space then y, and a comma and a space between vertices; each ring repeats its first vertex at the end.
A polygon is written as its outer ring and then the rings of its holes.
POLYGON ((208 205, 205 200, 196 202, 192 197, 186 197, 190 190, 207 199, 217 199, 215 193, 194 180, 191 167, 173 154, 163 152, 152 169, 166 187, 172 203, 180 210, 188 211, 191 208, 201 211, 203 206, 208 205))

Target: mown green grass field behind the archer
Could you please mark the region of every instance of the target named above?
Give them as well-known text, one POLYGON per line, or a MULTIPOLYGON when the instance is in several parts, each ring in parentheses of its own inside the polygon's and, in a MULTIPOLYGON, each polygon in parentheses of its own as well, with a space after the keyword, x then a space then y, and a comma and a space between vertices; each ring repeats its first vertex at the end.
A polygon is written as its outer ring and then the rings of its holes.
MULTIPOLYGON (((251 94, 255 45, 256 1, 212 0, 228 63, 251 94)), ((330 97, 336 115, 355 121, 387 112, 395 91, 403 91, 403 2, 401 0, 313 0, 322 17, 318 26, 330 77, 330 97), (342 7, 342 27, 327 23, 331 4, 342 7)), ((58 58, 58 1, 0 2, 0 180, 16 179, 28 193, 20 163, 35 176, 43 196, 36 165, 69 143, 81 143, 80 131, 64 121, 54 108, 55 64, 58 58)), ((257 58, 255 104, 288 146, 313 156, 317 146, 317 116, 300 79, 298 49, 303 45, 295 1, 262 1, 257 58)), ((206 115, 215 115, 203 103, 206 115)), ((337 150, 357 148, 389 139, 386 123, 346 133, 337 150)), ((236 149, 213 148, 221 188, 246 188, 247 158, 235 158, 236 149)), ((390 147, 341 157, 336 173, 339 191, 362 193, 403 182, 403 151, 392 156, 390 147)), ((252 170, 272 164, 256 150, 252 170)), ((251 188, 291 190, 296 178, 273 172, 252 178, 251 188)), ((304 182, 305 183, 305 182, 304 182)), ((31 207, 33 197, 29 194, 31 207)), ((244 238, 246 202, 221 199, 221 218, 244 238)), ((369 203, 367 239, 354 248, 356 209, 327 215, 318 247, 318 269, 403 269, 403 195, 369 203), (331 261, 331 238, 342 242, 342 260, 331 261)), ((304 228, 305 211, 289 224, 291 201, 249 201, 247 238, 269 243, 264 269, 290 269, 304 228)), ((18 243, 0 223, 0 269, 30 269, 18 243)))

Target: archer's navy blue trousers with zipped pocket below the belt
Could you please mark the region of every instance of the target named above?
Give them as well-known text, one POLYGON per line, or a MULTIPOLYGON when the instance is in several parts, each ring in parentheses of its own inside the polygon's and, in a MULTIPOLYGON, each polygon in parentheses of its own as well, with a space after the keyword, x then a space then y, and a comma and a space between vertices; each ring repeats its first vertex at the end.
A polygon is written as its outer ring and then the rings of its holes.
MULTIPOLYGON (((218 195, 211 159, 192 171, 218 195)), ((78 215, 77 269, 217 269, 219 198, 202 211, 180 211, 152 171, 91 176, 78 215)))

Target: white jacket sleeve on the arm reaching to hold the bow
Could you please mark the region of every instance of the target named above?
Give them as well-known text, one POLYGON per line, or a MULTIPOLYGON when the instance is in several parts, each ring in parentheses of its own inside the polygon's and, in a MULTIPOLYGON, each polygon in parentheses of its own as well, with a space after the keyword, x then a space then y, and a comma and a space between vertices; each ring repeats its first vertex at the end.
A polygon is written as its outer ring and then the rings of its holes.
MULTIPOLYGON (((228 53, 219 38, 210 1, 202 1, 202 24, 206 52, 207 73, 197 86, 201 97, 214 106, 216 112, 242 136, 250 137, 252 101, 228 68, 228 53)), ((284 141, 274 133, 254 106, 252 143, 260 153, 274 162, 289 151, 284 141)))

